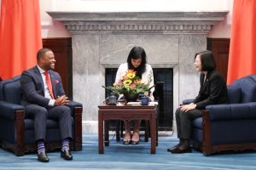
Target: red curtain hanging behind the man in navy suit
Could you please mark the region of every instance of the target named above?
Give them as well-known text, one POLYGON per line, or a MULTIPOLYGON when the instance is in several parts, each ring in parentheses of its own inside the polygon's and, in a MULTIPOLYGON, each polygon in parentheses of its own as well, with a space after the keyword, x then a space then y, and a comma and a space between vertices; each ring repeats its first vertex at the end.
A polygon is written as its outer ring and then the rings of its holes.
POLYGON ((38 0, 2 0, 0 77, 8 79, 36 65, 42 48, 38 0))

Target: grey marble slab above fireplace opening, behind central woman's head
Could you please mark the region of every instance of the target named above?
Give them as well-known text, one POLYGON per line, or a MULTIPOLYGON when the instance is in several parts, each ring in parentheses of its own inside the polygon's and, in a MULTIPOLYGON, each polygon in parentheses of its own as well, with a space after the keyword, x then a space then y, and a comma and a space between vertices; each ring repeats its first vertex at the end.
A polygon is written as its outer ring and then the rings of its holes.
POLYGON ((152 65, 178 62, 177 35, 102 35, 100 38, 101 64, 124 63, 134 46, 145 49, 152 65))

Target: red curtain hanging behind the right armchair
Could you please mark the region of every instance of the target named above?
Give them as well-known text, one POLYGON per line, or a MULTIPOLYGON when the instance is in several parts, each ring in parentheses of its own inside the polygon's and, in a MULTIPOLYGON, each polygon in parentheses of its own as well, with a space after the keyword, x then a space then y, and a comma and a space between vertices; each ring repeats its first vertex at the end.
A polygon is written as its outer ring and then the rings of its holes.
POLYGON ((235 0, 227 82, 250 74, 256 74, 256 0, 235 0))

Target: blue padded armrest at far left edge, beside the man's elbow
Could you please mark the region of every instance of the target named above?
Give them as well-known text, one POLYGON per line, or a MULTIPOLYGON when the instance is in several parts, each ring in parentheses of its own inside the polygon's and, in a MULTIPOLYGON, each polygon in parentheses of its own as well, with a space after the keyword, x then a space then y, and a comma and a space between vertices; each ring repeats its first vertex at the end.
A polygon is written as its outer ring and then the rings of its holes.
POLYGON ((23 112, 25 116, 24 107, 22 105, 12 104, 6 101, 0 101, 0 117, 15 120, 17 112, 23 112))

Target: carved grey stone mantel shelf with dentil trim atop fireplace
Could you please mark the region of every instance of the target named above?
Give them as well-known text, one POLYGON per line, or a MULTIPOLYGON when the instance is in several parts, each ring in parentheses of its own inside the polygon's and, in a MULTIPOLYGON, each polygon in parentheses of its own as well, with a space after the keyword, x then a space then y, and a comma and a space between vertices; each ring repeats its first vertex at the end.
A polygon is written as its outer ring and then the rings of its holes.
POLYGON ((48 12, 73 34, 207 34, 223 12, 78 13, 48 12))

